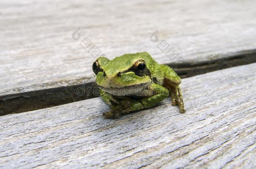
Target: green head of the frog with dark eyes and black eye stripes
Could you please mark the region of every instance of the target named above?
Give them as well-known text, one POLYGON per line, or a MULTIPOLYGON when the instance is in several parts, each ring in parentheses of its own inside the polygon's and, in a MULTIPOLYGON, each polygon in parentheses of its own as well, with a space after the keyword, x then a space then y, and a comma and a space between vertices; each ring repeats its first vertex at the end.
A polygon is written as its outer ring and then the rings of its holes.
POLYGON ((131 88, 145 88, 152 82, 149 67, 154 60, 144 53, 125 54, 109 60, 97 58, 92 69, 96 74, 96 83, 104 91, 114 95, 125 95, 131 88), (122 88, 125 93, 116 91, 122 88), (115 90, 115 92, 113 92, 115 90))

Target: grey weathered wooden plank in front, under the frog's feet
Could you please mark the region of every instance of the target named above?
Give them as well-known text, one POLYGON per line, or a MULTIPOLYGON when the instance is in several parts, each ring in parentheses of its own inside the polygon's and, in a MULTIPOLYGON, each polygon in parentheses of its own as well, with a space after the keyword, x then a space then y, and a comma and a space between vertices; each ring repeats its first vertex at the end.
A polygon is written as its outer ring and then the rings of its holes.
POLYGON ((185 114, 104 119, 93 98, 0 117, 0 168, 255 168, 256 63, 183 79, 185 114))

